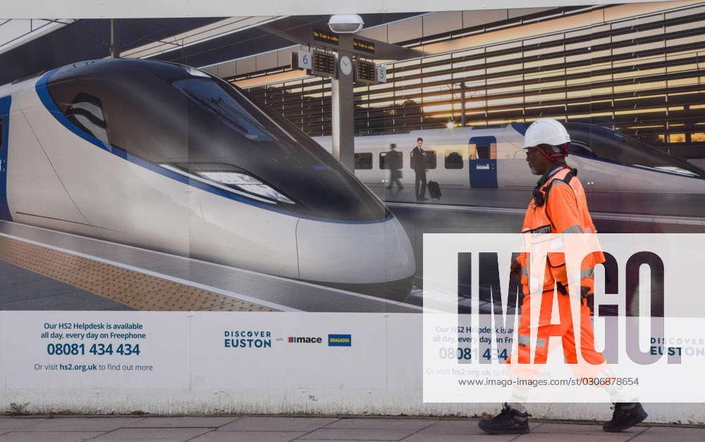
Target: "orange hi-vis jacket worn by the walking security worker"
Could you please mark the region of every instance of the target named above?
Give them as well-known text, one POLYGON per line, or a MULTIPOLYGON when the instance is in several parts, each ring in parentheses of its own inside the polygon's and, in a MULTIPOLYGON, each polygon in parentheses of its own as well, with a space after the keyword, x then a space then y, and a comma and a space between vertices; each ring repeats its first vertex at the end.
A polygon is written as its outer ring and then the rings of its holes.
MULTIPOLYGON (((577 178, 575 169, 560 168, 559 171, 553 169, 548 177, 542 177, 539 181, 534 197, 529 202, 522 233, 596 233, 595 226, 590 218, 587 209, 587 197, 585 190, 577 178), (540 194, 540 195, 539 195, 540 194), (537 204, 537 199, 539 202, 537 204), (544 201, 541 202, 540 199, 544 201)), ((522 286, 524 294, 528 295, 529 286, 529 265, 526 254, 521 254, 517 258, 522 264, 522 286)), ((580 284, 589 287, 589 292, 593 292, 594 278, 593 269, 596 264, 605 262, 602 252, 592 253, 591 258, 584 259, 581 265, 580 284)), ((568 281, 561 276, 565 276, 565 261, 563 254, 548 254, 548 264, 551 269, 556 270, 562 267, 562 271, 551 271, 556 276, 556 281, 563 285, 568 281)), ((547 269, 548 270, 548 269, 547 269)), ((548 278, 546 278, 548 279, 548 278)), ((546 281, 548 282, 548 281, 546 281)), ((551 284, 553 281, 551 281, 551 284)), ((544 287, 544 290, 553 291, 553 286, 544 287)))

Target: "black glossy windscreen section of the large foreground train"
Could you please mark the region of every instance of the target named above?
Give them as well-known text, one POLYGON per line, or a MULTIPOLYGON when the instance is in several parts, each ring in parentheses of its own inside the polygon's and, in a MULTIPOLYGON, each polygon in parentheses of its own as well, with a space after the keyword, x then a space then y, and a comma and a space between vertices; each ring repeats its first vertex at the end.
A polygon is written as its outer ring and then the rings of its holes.
POLYGON ((199 70, 101 60, 58 70, 47 87, 96 144, 317 219, 381 221, 389 214, 295 125, 199 70))

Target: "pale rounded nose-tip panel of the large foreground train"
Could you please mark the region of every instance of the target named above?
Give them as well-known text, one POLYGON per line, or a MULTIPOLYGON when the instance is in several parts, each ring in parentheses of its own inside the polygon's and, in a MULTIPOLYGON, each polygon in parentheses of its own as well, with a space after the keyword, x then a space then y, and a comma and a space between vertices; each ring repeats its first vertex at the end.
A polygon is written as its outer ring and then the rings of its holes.
POLYGON ((373 223, 300 219, 299 278, 403 301, 416 272, 414 251, 399 221, 373 223))

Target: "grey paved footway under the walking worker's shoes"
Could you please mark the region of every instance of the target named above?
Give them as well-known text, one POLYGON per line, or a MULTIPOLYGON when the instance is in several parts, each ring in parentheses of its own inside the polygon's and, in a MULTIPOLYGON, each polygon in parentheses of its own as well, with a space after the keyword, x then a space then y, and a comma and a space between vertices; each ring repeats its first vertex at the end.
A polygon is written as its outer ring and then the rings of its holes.
POLYGON ((532 421, 531 433, 490 436, 477 419, 405 417, 0 417, 0 442, 74 441, 701 441, 695 426, 639 425, 621 433, 604 433, 601 424, 532 421))

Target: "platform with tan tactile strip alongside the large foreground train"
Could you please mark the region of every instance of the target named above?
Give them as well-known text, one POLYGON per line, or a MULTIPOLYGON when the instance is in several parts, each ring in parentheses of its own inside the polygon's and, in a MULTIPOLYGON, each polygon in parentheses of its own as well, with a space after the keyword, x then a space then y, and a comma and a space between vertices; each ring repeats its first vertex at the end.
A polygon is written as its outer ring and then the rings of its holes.
POLYGON ((112 301, 106 308, 137 310, 421 312, 379 297, 8 221, 0 221, 0 262, 47 288, 42 296, 21 279, 0 280, 0 297, 18 302, 0 302, 0 309, 100 309, 92 294, 112 301))

